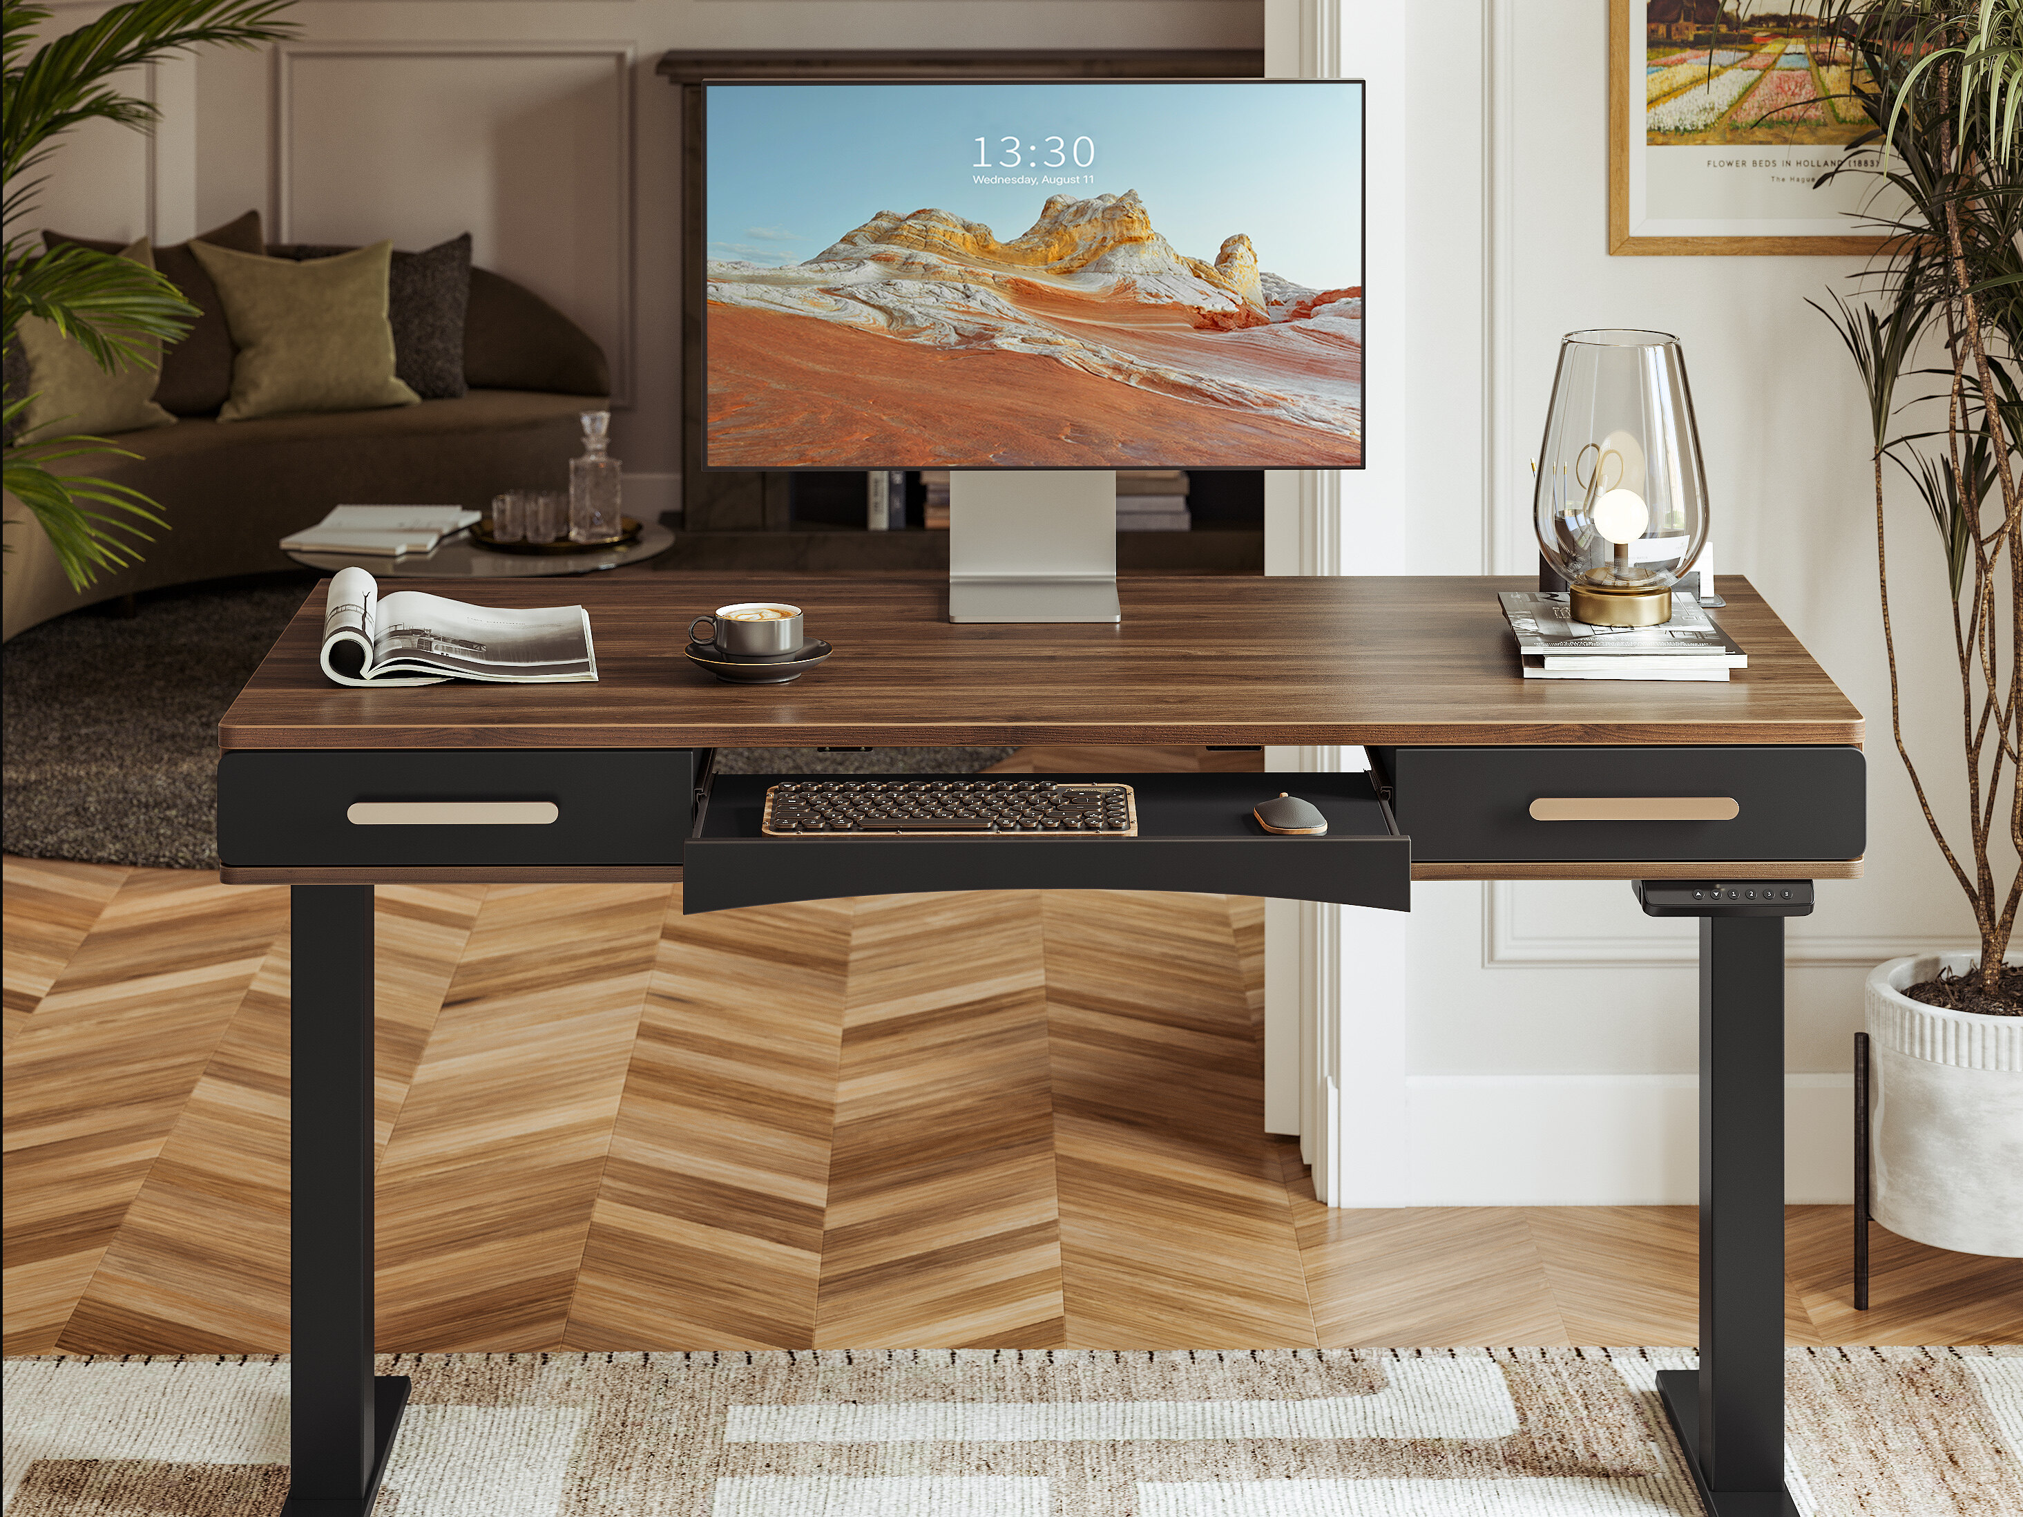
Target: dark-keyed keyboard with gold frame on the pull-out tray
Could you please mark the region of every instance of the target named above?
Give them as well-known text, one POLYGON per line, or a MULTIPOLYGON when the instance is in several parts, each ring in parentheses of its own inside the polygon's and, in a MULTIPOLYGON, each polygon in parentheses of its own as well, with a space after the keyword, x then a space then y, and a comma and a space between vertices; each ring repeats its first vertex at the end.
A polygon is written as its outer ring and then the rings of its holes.
POLYGON ((1044 779, 789 781, 765 793, 767 837, 1137 837, 1129 785, 1044 779))

